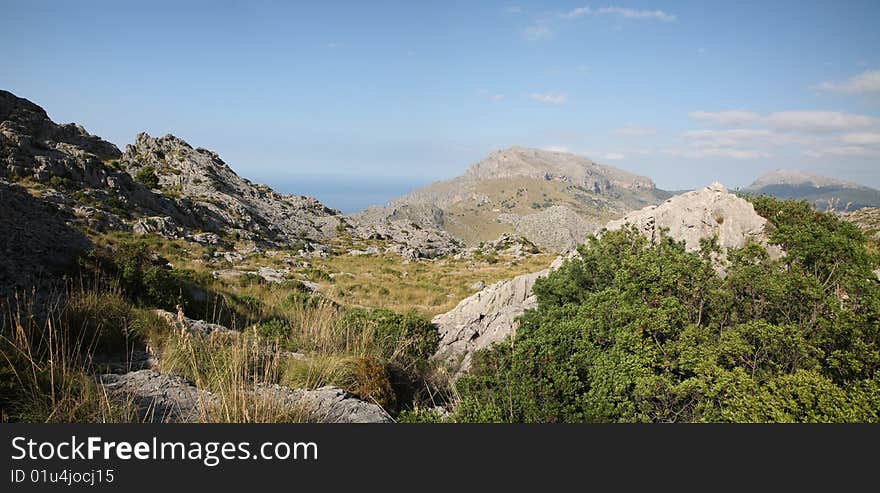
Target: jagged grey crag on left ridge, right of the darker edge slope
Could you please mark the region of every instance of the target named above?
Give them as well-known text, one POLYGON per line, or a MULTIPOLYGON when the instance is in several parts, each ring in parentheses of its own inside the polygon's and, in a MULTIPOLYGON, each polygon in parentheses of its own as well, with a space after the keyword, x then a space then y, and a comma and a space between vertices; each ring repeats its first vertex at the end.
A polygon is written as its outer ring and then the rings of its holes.
MULTIPOLYGON (((291 245, 336 234, 340 213, 311 197, 282 195, 238 176, 217 153, 166 135, 138 134, 120 164, 132 175, 152 172, 158 189, 186 197, 202 209, 201 229, 252 241, 291 245)), ((161 230, 160 230, 161 231, 161 230)))

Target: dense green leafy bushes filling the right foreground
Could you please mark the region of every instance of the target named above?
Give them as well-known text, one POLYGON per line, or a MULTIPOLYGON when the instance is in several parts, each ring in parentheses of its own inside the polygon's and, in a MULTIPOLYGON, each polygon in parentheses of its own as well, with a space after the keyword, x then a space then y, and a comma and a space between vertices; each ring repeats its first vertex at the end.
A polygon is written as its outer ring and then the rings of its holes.
POLYGON ((609 232, 537 282, 515 344, 476 355, 456 419, 878 421, 877 257, 805 202, 755 200, 786 250, 708 252, 609 232))

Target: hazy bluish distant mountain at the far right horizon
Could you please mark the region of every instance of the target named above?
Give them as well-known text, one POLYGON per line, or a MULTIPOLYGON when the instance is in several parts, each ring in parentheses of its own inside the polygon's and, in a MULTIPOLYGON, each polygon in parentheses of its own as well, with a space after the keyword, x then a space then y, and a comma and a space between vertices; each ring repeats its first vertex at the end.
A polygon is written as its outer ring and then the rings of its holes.
POLYGON ((852 211, 880 207, 880 190, 799 170, 771 171, 744 191, 780 199, 803 199, 821 210, 852 211))

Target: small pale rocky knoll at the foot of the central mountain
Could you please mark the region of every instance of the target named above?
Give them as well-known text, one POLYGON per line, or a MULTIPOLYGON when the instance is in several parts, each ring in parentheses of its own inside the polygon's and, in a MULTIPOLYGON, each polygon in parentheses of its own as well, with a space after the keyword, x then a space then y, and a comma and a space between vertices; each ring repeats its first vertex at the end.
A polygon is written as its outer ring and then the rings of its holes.
POLYGON ((562 205, 535 214, 501 214, 498 219, 513 225, 517 233, 544 250, 557 253, 571 250, 599 229, 598 224, 562 205))

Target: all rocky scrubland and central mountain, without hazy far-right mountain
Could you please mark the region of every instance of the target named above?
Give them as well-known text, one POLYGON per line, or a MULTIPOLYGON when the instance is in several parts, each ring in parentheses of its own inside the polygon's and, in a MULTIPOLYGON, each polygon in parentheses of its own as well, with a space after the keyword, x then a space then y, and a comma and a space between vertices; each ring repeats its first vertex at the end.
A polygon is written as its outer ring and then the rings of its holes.
POLYGON ((523 148, 343 216, 0 92, 0 421, 876 422, 875 216, 523 148))

